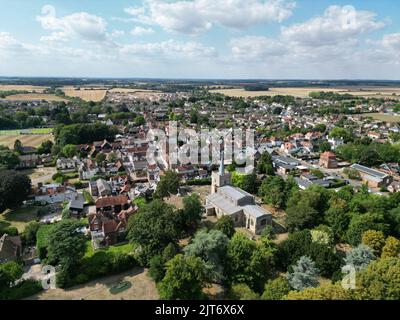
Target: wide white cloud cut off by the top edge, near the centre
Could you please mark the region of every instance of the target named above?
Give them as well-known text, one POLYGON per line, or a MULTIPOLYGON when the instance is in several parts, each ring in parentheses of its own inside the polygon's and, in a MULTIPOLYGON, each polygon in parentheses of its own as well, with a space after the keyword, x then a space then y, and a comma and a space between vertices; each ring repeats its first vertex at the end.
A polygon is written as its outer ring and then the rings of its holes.
POLYGON ((282 22, 292 15, 294 7, 292 0, 147 0, 144 7, 127 8, 125 12, 144 24, 159 25, 167 31, 194 34, 209 30, 215 24, 242 29, 282 22))

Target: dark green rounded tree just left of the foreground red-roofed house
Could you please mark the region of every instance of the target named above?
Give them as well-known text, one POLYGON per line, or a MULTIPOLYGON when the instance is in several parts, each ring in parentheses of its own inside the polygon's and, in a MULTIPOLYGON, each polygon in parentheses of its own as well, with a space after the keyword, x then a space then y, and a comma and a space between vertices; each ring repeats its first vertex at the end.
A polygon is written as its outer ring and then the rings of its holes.
POLYGON ((73 272, 86 251, 85 235, 79 230, 82 223, 62 220, 49 234, 47 260, 49 264, 60 265, 65 273, 73 272))

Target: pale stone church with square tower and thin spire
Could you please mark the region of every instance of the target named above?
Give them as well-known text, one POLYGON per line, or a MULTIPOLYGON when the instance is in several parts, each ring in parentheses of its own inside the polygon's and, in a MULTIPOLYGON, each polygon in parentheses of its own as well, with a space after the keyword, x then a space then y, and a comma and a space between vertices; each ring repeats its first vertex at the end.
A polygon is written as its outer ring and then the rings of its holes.
POLYGON ((256 205, 250 193, 231 185, 231 174, 225 172, 224 155, 218 172, 212 173, 211 194, 206 198, 207 215, 218 218, 229 215, 236 227, 246 228, 253 234, 272 224, 272 213, 256 205))

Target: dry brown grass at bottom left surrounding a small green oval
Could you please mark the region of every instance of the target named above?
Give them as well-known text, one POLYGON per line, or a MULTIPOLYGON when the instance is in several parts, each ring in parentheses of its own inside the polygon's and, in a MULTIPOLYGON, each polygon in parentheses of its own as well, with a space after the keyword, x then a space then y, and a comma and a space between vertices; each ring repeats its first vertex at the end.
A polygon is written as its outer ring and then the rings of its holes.
POLYGON ((134 268, 131 271, 109 276, 74 286, 69 289, 51 289, 42 291, 27 300, 157 300, 158 292, 147 270, 134 268), (122 281, 128 281, 131 287, 112 294, 110 289, 122 281))

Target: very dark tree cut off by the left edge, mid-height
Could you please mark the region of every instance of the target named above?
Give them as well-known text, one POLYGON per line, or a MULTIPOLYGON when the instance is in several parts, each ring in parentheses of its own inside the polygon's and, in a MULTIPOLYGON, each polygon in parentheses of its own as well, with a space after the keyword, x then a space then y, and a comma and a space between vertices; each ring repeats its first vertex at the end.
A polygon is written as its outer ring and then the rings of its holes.
POLYGON ((26 174, 13 170, 0 171, 0 212, 20 206, 30 191, 31 180, 26 174))

